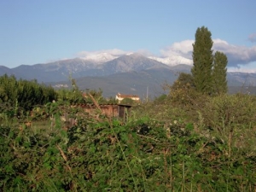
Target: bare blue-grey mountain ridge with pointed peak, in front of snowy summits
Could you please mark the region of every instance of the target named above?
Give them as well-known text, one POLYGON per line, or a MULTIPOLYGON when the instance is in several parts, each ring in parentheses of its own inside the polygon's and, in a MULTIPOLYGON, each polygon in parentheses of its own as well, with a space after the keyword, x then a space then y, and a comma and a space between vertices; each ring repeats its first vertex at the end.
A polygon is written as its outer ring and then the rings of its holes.
POLYGON ((37 79, 38 82, 47 83, 68 80, 69 76, 77 79, 85 76, 106 76, 114 73, 140 71, 148 68, 169 68, 166 64, 138 54, 123 55, 112 61, 108 61, 108 57, 106 59, 107 62, 104 63, 101 63, 102 58, 100 59, 97 58, 98 61, 93 61, 91 59, 75 58, 32 66, 21 65, 12 69, 6 67, 4 70, 1 70, 0 75, 13 73, 18 79, 37 79))

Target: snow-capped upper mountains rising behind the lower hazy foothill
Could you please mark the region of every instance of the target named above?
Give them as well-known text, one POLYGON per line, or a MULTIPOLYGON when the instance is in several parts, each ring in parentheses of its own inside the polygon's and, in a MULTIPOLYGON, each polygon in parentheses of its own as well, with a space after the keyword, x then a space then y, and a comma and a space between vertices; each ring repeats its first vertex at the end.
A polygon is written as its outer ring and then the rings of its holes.
MULTIPOLYGON (((88 79, 98 77, 99 79, 102 79, 103 77, 105 78, 109 75, 118 73, 143 73, 145 71, 148 73, 148 70, 150 70, 150 77, 153 79, 160 79, 160 76, 167 77, 168 74, 172 76, 172 74, 178 75, 178 73, 181 72, 190 73, 192 61, 183 57, 179 57, 179 59, 180 60, 178 61, 176 55, 168 58, 159 58, 147 57, 137 53, 132 54, 125 52, 121 54, 112 54, 104 52, 94 55, 88 54, 83 58, 61 60, 32 66, 21 65, 15 68, 0 66, 0 75, 5 73, 9 75, 14 74, 17 79, 37 79, 38 82, 47 83, 69 81, 70 78, 79 79, 83 77, 88 77, 88 79), (160 74, 159 72, 162 71, 165 73, 156 75, 157 73, 160 74)), ((123 75, 124 74, 121 76, 123 75)), ((176 76, 175 79, 177 79, 176 76)), ((117 82, 120 81, 121 80, 118 80, 117 82)), ((162 79, 160 81, 156 81, 160 82, 162 79)), ((117 82, 114 82, 113 84, 116 84, 117 82)), ((86 82, 84 82, 84 84, 85 83, 86 82)), ((233 86, 255 86, 256 73, 228 73, 228 83, 232 84, 233 86)))

